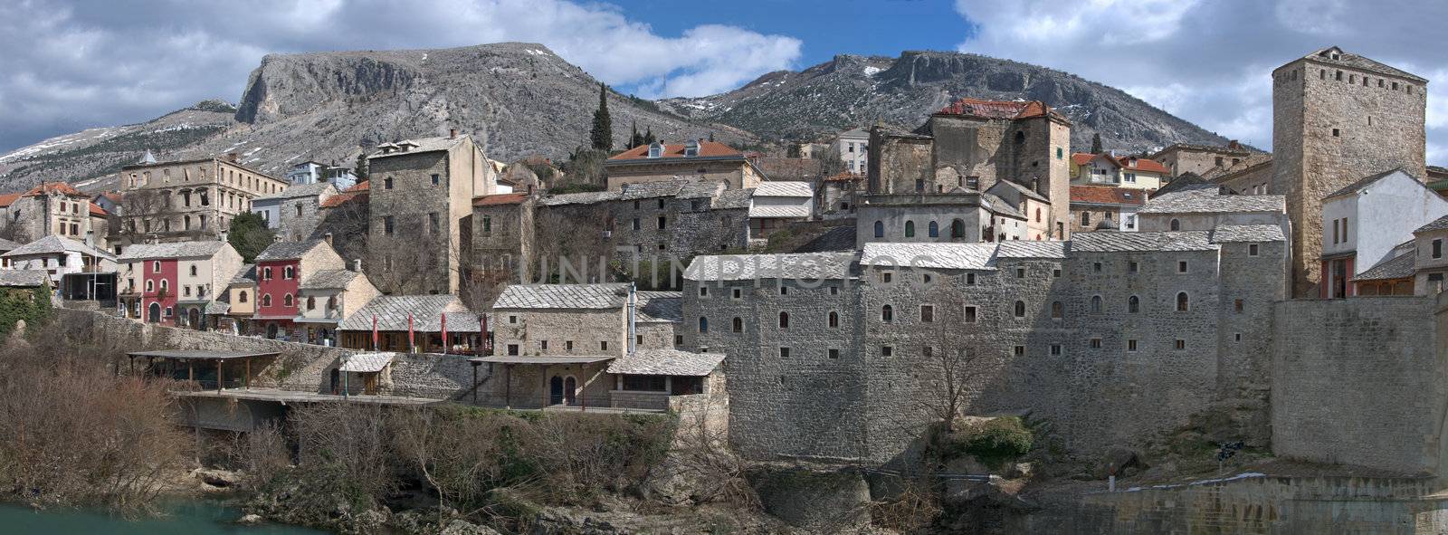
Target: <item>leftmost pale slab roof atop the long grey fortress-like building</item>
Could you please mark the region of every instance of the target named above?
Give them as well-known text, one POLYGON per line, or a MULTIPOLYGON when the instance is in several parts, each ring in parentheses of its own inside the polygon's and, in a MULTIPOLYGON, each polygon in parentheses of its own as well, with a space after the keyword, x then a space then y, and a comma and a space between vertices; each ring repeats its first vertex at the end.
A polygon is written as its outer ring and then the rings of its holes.
POLYGON ((854 252, 801 252, 773 255, 696 257, 683 278, 699 281, 805 278, 843 280, 850 275, 854 252))

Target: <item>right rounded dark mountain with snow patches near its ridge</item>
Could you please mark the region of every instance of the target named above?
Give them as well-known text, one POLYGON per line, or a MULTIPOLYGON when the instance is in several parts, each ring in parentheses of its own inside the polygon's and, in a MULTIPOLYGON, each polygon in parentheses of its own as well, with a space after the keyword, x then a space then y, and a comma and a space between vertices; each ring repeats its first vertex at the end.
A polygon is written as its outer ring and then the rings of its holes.
POLYGON ((728 93, 659 104, 762 139, 809 141, 876 120, 914 129, 930 113, 967 96, 1041 100, 1070 117, 1072 146, 1080 151, 1090 149, 1095 133, 1100 133, 1103 148, 1118 151, 1226 142, 1125 91, 1044 67, 959 52, 837 55, 799 72, 765 74, 728 93))

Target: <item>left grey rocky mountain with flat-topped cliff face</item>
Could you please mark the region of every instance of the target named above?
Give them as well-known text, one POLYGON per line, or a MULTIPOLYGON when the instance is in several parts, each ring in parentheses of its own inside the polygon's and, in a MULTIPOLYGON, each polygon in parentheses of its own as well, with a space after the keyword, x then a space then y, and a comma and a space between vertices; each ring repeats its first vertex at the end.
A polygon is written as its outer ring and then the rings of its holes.
MULTIPOLYGON (((20 148, 0 155, 0 190, 41 180, 106 188, 107 174, 148 148, 161 159, 239 152, 246 165, 279 175, 307 159, 350 164, 379 142, 449 128, 472 133, 495 159, 566 158, 588 144, 597 107, 598 81, 537 43, 266 55, 237 106, 206 101, 20 148)), ((608 109, 620 142, 634 122, 666 139, 753 139, 617 93, 608 109)))

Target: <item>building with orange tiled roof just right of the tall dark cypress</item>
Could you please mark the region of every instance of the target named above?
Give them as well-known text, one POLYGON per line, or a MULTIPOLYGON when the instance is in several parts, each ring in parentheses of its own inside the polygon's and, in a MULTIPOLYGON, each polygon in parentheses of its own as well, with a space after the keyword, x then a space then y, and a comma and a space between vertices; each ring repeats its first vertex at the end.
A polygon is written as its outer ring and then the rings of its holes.
POLYGON ((654 181, 721 181, 731 190, 750 188, 765 180, 744 154, 728 145, 691 139, 681 144, 639 145, 604 161, 608 188, 654 181))

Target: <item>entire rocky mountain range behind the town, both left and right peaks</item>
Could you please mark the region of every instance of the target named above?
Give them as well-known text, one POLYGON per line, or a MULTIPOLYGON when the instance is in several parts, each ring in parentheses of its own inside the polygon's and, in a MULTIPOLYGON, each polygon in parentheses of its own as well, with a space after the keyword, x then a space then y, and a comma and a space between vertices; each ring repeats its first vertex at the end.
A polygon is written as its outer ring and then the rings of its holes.
MULTIPOLYGON (((914 128, 963 97, 1034 99, 1066 113, 1077 149, 1140 151, 1221 136, 1119 90, 1043 67, 954 52, 840 55, 770 72, 734 91, 650 101, 611 93, 614 139, 630 126, 662 139, 728 144, 820 139, 876 120, 914 128)), ((301 161, 350 164, 385 141, 472 133, 488 155, 566 158, 588 142, 598 81, 537 43, 449 49, 281 54, 262 58, 236 106, 207 100, 158 119, 51 138, 0 155, 0 191, 46 180, 114 187, 110 174, 146 149, 161 159, 237 152, 282 174, 301 161)))

